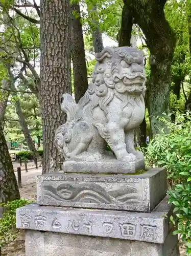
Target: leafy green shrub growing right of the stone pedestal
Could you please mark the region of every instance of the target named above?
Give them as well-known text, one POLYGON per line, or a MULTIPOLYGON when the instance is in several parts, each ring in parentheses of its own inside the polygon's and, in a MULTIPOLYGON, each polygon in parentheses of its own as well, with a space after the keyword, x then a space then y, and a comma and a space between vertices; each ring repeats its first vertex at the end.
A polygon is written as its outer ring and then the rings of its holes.
MULTIPOLYGON (((189 114, 189 113, 188 113, 189 114)), ((175 205, 174 223, 191 253, 191 117, 182 116, 175 124, 167 122, 169 133, 161 132, 153 139, 146 152, 149 166, 167 169, 170 202, 175 205)))

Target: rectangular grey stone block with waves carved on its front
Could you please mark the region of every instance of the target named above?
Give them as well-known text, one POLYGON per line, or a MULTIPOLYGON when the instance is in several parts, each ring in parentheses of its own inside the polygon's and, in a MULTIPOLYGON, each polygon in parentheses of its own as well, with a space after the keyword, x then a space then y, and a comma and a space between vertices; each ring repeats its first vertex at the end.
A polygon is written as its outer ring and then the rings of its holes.
POLYGON ((37 204, 151 212, 166 195, 164 169, 141 175, 51 173, 37 178, 37 204))

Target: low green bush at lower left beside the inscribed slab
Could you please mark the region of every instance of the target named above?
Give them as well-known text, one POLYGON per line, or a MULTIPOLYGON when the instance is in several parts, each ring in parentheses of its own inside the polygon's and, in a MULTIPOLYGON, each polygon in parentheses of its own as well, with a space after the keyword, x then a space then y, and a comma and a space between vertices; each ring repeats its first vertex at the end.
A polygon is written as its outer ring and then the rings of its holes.
POLYGON ((19 199, 0 204, 0 207, 6 208, 2 219, 0 218, 0 247, 5 246, 17 238, 19 229, 16 229, 16 209, 30 203, 32 201, 19 199))

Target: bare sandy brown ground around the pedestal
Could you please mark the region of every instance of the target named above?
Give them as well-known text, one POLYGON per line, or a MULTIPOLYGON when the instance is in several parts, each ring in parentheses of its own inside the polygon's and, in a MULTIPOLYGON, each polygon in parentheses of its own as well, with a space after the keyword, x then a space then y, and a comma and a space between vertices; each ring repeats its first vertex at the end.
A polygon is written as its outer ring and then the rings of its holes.
MULTIPOLYGON (((14 163, 14 169, 16 170, 18 163, 14 163)), ((28 168, 34 167, 34 163, 28 163, 28 168)), ((21 166, 21 181, 22 181, 22 188, 20 188, 20 196, 22 198, 26 198, 29 200, 36 200, 36 176, 40 175, 42 172, 42 168, 39 167, 38 169, 33 168, 25 172, 25 166, 21 166)), ((16 175, 17 176, 17 175, 16 175)), ((185 249, 180 244, 180 255, 185 256, 185 249)), ((25 256, 25 238, 24 233, 21 230, 19 233, 18 238, 7 245, 6 247, 2 248, 2 256, 25 256)))

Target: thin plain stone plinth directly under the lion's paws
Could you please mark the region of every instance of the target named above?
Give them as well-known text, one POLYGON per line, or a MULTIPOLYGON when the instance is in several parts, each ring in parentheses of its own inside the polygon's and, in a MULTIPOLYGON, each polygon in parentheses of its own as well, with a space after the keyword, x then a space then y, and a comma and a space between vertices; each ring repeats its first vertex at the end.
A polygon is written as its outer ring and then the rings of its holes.
POLYGON ((136 170, 145 170, 143 159, 136 162, 120 162, 118 160, 102 162, 74 162, 66 161, 63 163, 64 173, 110 173, 128 174, 135 173, 136 170))

